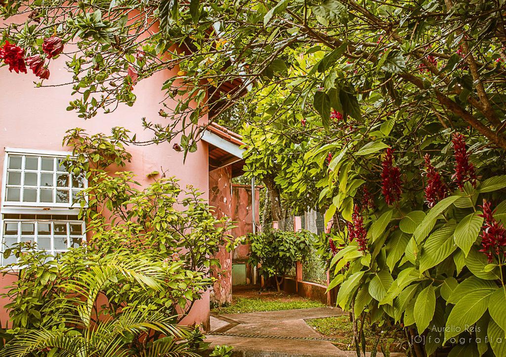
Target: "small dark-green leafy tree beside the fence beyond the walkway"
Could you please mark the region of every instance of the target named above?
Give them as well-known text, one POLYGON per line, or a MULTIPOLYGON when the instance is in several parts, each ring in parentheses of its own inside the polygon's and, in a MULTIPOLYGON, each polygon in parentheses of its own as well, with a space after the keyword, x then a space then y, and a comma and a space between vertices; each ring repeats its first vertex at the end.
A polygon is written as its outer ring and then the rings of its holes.
POLYGON ((259 272, 264 277, 276 280, 277 291, 283 283, 285 273, 293 268, 296 262, 306 259, 313 234, 309 231, 284 232, 271 230, 248 236, 251 252, 248 262, 259 265, 259 272))

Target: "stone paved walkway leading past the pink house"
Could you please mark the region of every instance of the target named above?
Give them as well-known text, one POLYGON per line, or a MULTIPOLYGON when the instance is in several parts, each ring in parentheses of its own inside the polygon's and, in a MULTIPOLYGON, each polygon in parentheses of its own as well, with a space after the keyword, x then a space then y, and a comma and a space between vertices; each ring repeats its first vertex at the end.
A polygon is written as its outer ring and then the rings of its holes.
POLYGON ((206 341, 212 343, 211 347, 217 344, 233 346, 234 355, 244 357, 356 356, 354 351, 343 351, 329 341, 321 340, 322 336, 304 322, 343 314, 338 308, 315 308, 213 315, 212 332, 206 336, 206 341), (213 332, 248 337, 213 335, 213 332), (304 340, 308 337, 320 340, 304 340))

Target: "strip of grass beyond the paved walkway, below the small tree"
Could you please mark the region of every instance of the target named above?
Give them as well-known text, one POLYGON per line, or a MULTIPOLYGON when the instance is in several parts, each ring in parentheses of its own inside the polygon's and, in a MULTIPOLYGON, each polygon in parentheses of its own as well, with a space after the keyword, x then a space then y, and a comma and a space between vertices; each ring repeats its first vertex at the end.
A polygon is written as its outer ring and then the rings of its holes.
POLYGON ((260 297, 236 297, 232 304, 223 308, 211 310, 213 314, 240 314, 254 313, 259 311, 278 311, 321 308, 325 305, 318 301, 302 299, 300 297, 290 299, 290 296, 271 296, 269 299, 260 297))

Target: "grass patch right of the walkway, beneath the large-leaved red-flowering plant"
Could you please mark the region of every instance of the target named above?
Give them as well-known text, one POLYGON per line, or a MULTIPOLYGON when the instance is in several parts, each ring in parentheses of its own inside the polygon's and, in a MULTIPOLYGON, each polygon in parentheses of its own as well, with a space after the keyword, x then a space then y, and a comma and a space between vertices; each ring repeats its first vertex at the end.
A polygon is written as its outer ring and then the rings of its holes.
MULTIPOLYGON (((306 320, 306 323, 314 328, 316 332, 336 339, 336 345, 343 350, 354 351, 355 343, 353 342, 353 324, 350 321, 348 315, 327 317, 322 319, 311 319, 306 320)), ((371 351, 376 344, 379 331, 375 331, 367 323, 364 324, 364 337, 366 342, 366 351, 371 351)), ((390 350, 390 352, 402 352, 400 349, 400 340, 394 341, 393 338, 385 336, 380 340, 380 344, 383 343, 384 347, 390 350)), ((378 352, 379 344, 378 344, 378 352)))

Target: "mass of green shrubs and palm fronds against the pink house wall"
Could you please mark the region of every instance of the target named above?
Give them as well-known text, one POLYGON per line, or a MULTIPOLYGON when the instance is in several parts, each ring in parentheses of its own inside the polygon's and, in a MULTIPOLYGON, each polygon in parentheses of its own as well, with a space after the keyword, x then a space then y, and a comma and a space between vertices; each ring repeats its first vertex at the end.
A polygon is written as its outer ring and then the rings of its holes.
POLYGON ((111 164, 130 158, 125 135, 120 128, 110 137, 69 132, 76 157, 69 170, 89 180, 79 213, 89 239, 56 256, 33 243, 5 251, 22 269, 3 294, 12 299, 7 333, 14 338, 2 355, 178 355, 199 344, 177 342, 195 339, 176 325, 212 286, 208 271, 219 262, 209 257, 233 246, 230 223, 215 219, 197 190, 181 189, 172 177, 142 188, 130 172, 110 175, 111 164))

